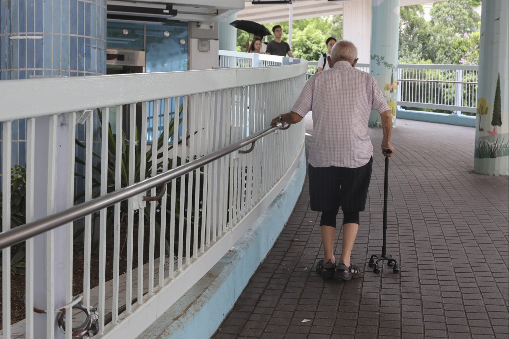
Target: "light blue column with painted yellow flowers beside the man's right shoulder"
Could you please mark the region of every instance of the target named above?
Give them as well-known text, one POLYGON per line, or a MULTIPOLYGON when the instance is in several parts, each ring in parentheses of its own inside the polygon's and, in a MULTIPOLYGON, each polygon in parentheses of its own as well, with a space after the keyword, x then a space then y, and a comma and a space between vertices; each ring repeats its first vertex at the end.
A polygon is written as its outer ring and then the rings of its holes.
MULTIPOLYGON (((399 34, 400 0, 372 0, 370 72, 392 111, 392 126, 396 124, 399 34)), ((378 111, 371 111, 368 126, 381 127, 378 111)))

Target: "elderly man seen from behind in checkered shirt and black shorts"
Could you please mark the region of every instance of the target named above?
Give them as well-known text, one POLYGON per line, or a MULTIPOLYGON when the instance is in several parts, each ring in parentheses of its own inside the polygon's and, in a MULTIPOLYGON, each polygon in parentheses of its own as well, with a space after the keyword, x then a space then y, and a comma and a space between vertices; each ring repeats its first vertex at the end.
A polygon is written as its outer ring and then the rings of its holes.
POLYGON ((321 211, 323 259, 316 271, 323 279, 350 280, 361 275, 350 256, 364 210, 371 179, 373 146, 367 122, 371 109, 382 119, 382 153, 394 154, 390 144, 391 111, 376 79, 355 69, 357 48, 349 41, 334 45, 327 57, 330 70, 310 78, 292 111, 272 124, 296 124, 313 111, 314 132, 309 152, 311 209, 321 211), (333 253, 336 215, 343 210, 343 249, 336 263, 333 253))

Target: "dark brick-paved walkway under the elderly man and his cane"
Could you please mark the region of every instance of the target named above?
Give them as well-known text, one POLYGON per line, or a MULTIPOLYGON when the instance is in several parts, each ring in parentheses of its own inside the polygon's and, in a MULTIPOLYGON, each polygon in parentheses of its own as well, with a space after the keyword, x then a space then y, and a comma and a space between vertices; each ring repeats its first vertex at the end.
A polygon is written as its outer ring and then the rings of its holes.
POLYGON ((509 338, 509 178, 471 171, 474 136, 473 128, 398 120, 387 253, 400 260, 399 274, 367 265, 381 252, 382 131, 371 130, 373 176, 352 256, 361 279, 316 274, 320 220, 306 180, 287 226, 213 338, 509 338))

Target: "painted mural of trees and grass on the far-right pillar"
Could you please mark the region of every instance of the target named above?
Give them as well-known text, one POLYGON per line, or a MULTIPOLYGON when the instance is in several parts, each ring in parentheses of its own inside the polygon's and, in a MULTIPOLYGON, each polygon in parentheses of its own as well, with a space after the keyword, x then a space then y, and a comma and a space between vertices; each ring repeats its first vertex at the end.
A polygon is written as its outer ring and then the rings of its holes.
MULTIPOLYGON (((483 115, 487 115, 489 111, 485 98, 477 100, 477 114, 479 115, 479 132, 485 131, 481 127, 483 115)), ((497 132, 497 127, 502 126, 502 100, 500 97, 500 73, 498 73, 497 84, 495 87, 495 98, 493 100, 493 111, 491 118, 492 130, 485 131, 486 136, 475 139, 474 156, 477 159, 497 158, 509 156, 509 135, 497 132)))

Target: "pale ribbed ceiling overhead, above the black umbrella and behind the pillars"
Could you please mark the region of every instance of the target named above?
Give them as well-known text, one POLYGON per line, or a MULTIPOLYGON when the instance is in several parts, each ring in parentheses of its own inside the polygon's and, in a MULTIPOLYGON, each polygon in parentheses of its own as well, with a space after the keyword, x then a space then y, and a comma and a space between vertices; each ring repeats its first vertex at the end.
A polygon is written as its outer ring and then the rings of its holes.
MULTIPOLYGON (((263 0, 262 0, 263 1, 263 0)), ((295 0, 293 3, 293 19, 307 19, 343 13, 343 4, 352 0, 295 0)), ((355 1, 355 0, 353 0, 355 1)), ((428 4, 444 0, 400 0, 400 6, 428 4)), ((237 19, 252 20, 259 23, 288 21, 290 5, 252 5, 245 0, 243 10, 237 12, 237 19)))

